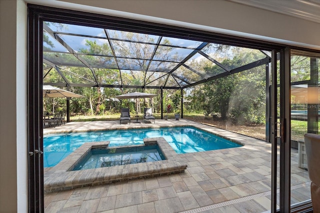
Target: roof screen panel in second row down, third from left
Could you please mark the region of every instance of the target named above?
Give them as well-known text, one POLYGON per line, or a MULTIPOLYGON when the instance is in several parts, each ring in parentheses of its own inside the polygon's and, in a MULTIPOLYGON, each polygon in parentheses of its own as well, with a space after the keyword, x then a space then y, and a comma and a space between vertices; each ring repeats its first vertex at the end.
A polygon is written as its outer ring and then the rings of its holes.
POLYGON ((165 60, 165 61, 182 61, 188 56, 193 49, 169 47, 169 46, 158 46, 153 56, 154 60, 165 60))

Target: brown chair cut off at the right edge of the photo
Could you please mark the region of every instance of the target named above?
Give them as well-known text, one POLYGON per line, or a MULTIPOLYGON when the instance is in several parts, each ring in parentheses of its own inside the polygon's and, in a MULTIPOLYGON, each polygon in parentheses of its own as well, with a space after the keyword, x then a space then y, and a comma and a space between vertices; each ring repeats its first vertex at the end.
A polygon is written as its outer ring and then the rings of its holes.
POLYGON ((311 201, 314 213, 320 213, 320 135, 304 134, 304 144, 309 179, 311 181, 311 201))

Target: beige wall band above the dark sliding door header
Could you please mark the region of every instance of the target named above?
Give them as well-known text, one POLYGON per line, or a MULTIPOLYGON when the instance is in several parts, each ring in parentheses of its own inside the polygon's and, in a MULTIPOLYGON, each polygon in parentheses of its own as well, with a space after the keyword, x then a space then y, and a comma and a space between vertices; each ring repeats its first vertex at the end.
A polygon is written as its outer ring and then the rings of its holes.
POLYGON ((26 1, 186 26, 320 50, 320 39, 318 39, 320 23, 227 0, 26 1))

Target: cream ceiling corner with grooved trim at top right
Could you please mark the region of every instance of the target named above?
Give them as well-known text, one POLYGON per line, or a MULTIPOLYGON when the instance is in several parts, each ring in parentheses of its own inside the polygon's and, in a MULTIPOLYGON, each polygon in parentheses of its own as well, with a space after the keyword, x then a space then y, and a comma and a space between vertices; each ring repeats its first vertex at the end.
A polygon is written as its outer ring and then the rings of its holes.
POLYGON ((320 0, 229 0, 320 23, 320 0))

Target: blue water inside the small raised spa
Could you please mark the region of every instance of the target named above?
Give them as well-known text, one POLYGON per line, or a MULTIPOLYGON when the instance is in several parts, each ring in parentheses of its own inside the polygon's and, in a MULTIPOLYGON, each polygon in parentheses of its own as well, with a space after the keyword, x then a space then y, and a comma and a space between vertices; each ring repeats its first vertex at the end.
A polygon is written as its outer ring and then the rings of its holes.
POLYGON ((157 145, 111 149, 93 148, 72 169, 85 170, 165 160, 157 145))

